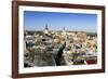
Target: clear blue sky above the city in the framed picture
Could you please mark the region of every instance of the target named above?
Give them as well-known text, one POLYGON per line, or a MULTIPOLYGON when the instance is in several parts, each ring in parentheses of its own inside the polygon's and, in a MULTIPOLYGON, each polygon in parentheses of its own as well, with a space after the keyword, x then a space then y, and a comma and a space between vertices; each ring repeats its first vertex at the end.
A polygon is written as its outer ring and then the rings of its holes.
POLYGON ((24 11, 25 30, 73 30, 73 31, 97 31, 97 15, 85 13, 59 13, 24 11))

